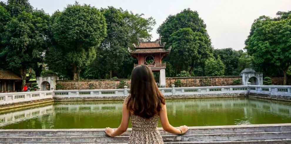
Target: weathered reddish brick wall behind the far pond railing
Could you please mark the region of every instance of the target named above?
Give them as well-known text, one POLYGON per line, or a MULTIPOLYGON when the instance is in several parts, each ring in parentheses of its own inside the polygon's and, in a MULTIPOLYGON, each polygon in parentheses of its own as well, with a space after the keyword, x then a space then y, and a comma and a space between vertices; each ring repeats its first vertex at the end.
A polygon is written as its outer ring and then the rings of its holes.
MULTIPOLYGON (((282 85, 283 77, 272 77, 274 85, 282 85)), ((81 89, 116 89, 120 81, 123 80, 130 88, 130 79, 100 79, 100 80, 59 80, 57 83, 63 86, 63 90, 81 90, 81 89)), ((233 81, 239 80, 242 85, 241 76, 209 76, 209 77, 170 77, 166 78, 166 87, 171 87, 176 80, 181 81, 183 87, 194 86, 231 86, 233 81)), ((287 84, 290 85, 291 78, 287 79, 287 84)))

